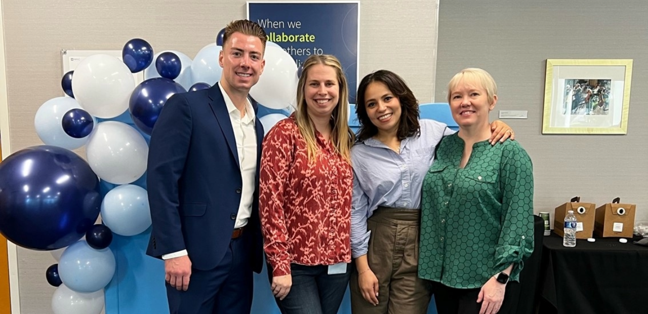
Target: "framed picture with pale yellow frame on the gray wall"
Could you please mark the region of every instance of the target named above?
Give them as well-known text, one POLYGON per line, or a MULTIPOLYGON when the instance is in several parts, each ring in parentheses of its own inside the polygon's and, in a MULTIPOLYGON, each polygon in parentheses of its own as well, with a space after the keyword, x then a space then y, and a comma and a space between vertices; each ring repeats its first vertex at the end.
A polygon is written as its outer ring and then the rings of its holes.
POLYGON ((542 134, 627 134, 632 60, 547 59, 542 134))

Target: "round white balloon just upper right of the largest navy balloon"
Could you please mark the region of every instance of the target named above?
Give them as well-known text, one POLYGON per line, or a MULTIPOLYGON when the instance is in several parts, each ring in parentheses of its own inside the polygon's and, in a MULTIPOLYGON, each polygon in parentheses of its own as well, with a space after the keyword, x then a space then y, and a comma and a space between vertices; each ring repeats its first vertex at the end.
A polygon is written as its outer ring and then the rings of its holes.
POLYGON ((87 162, 93 171, 112 184, 128 184, 146 172, 146 140, 126 123, 99 123, 86 147, 87 162))

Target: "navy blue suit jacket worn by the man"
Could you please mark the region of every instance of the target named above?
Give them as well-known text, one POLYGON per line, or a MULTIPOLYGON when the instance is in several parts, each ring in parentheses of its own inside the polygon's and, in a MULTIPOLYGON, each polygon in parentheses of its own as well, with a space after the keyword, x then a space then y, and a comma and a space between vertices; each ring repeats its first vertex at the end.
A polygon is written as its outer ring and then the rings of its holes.
MULTIPOLYGON (((246 232, 250 267, 260 272, 259 166, 263 127, 255 119, 257 174, 246 232)), ((187 249, 192 267, 213 269, 224 257, 241 199, 237 144, 218 85, 168 99, 151 134, 146 184, 152 234, 146 254, 187 249)))

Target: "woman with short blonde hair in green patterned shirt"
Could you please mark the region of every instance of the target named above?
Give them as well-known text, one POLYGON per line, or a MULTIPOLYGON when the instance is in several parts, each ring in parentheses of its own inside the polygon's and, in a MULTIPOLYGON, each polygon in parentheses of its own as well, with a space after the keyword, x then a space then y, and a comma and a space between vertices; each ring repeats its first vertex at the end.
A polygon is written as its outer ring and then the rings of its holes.
POLYGON ((531 159, 517 141, 489 144, 496 93, 483 69, 448 84, 459 132, 443 138, 424 178, 419 245, 439 314, 514 313, 505 291, 533 252, 531 159))

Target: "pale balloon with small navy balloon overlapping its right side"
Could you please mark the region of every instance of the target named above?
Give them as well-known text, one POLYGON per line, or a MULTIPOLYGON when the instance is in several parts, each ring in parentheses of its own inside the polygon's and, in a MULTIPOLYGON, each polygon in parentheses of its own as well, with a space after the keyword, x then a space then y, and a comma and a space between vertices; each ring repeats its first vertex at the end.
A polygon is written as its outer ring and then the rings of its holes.
MULTIPOLYGON (((62 120, 66 112, 73 108, 81 108, 76 99, 71 97, 56 97, 43 103, 34 117, 36 134, 47 145, 78 149, 86 144, 85 138, 73 138, 63 130, 62 120)), ((97 123, 96 119, 93 120, 97 123)))

